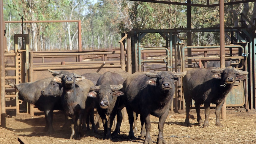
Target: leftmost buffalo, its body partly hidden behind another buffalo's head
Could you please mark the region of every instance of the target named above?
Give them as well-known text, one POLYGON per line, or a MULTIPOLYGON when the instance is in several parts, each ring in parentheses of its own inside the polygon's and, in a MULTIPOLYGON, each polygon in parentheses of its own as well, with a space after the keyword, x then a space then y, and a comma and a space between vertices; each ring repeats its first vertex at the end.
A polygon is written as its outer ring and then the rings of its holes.
POLYGON ((32 83, 9 84, 19 91, 18 98, 24 102, 35 105, 45 114, 47 134, 53 134, 53 110, 63 110, 60 97, 45 97, 41 94, 44 87, 50 83, 52 78, 37 80, 32 83))

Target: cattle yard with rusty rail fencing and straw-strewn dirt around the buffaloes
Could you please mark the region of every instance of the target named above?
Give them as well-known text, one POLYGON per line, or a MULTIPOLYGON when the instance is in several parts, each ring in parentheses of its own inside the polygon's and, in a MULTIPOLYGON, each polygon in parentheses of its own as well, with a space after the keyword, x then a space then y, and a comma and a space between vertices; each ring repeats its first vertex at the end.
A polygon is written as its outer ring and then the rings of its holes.
MULTIPOLYGON (((241 16, 242 17, 242 16, 241 16)), ((37 21, 33 21, 37 22, 37 21)), ((40 21, 42 22, 42 21, 40 21)), ((48 21, 49 22, 49 21, 48 21)), ((60 22, 60 21, 59 21, 60 22)), ((61 21, 64 22, 64 21, 61 21)), ((74 21, 78 23, 80 21, 74 21)), ((182 78, 175 83, 175 94, 170 105, 169 115, 164 123, 163 137, 167 143, 255 143, 255 51, 256 36, 255 25, 250 28, 232 27, 225 28, 225 32, 231 35, 230 45, 224 48, 216 45, 189 46, 189 39, 179 39, 180 33, 196 32, 220 32, 220 29, 165 29, 165 30, 140 30, 134 29, 122 34, 120 49, 81 50, 77 51, 29 51, 27 34, 15 34, 15 50, 4 53, 5 61, 5 100, 6 104, 1 108, 6 110, 6 129, 0 130, 0 143, 18 143, 17 137, 26 143, 143 143, 140 134, 135 133, 135 140, 128 140, 129 122, 124 118, 120 128, 120 134, 113 140, 103 140, 104 129, 101 125, 98 133, 86 135, 80 140, 68 140, 70 130, 63 130, 64 115, 62 111, 54 111, 54 134, 45 134, 45 116, 37 107, 28 102, 19 100, 18 91, 9 84, 34 82, 53 74, 51 70, 67 70, 78 75, 84 73, 104 74, 124 70, 129 74, 149 71, 184 72, 194 67, 221 67, 221 61, 225 61, 225 67, 232 66, 239 70, 248 71, 248 79, 236 81, 232 90, 227 94, 225 107, 227 118, 221 123, 225 126, 215 126, 214 109, 210 112, 207 129, 203 129, 196 120, 195 105, 192 102, 192 110, 189 120, 192 127, 184 126, 186 118, 185 102, 183 96, 182 78), (159 34, 165 40, 165 44, 159 46, 141 45, 141 40, 146 34, 159 34), (19 42, 19 38, 24 39, 19 42), (24 43, 21 49, 18 43, 24 43), (224 52, 224 57, 221 56, 224 52)), ((45 86, 47 86, 45 84, 45 86)), ((214 104, 210 105, 215 108, 214 104)), ((203 105, 200 113, 204 119, 203 105)), ((96 117, 96 112, 94 113, 96 117)), ((159 119, 150 116, 151 137, 153 143, 157 143, 159 119)), ((140 117, 138 118, 140 129, 140 117)), ((113 130, 112 130, 113 132, 113 130)))

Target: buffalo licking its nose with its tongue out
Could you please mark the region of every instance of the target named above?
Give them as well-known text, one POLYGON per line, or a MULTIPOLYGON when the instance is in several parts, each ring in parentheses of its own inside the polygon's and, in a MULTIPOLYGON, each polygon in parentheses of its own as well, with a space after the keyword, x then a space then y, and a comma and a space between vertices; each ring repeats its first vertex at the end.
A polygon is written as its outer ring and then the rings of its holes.
POLYGON ((123 86, 123 82, 129 75, 128 72, 118 70, 115 72, 105 72, 97 81, 96 86, 90 88, 88 96, 96 97, 96 108, 102 119, 104 127, 104 139, 111 139, 111 127, 113 120, 117 115, 117 125, 112 135, 120 133, 120 125, 122 121, 121 109, 123 105, 119 105, 120 97, 124 93, 119 91, 123 86), (109 115, 107 120, 106 115, 109 115))

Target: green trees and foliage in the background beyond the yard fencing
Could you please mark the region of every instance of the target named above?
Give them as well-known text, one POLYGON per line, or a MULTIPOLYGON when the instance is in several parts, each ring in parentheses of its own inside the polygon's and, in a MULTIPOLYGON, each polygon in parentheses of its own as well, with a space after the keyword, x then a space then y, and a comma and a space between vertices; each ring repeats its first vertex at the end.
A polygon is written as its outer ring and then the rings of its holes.
MULTIPOLYGON (((226 1, 226 0, 225 0, 226 1)), ((187 2, 172 0, 172 2, 187 2)), ((209 1, 218 4, 218 1, 209 1)), ((206 4, 205 0, 192 1, 206 4)), ((254 2, 249 3, 247 18, 253 17, 254 2)), ((239 23, 243 4, 225 6, 225 26, 239 23)), ((82 49, 118 48, 121 33, 132 29, 176 29, 187 27, 187 7, 127 0, 4 0, 4 20, 81 20, 82 49), (93 3, 94 2, 94 3, 93 3), (10 19, 11 18, 11 19, 10 19)), ((192 28, 219 27, 219 7, 191 7, 192 28)), ((11 26, 6 37, 21 33, 18 23, 11 26)), ((25 23, 25 33, 30 34, 31 50, 77 50, 77 23, 25 23), (32 37, 33 32, 35 36, 32 37), (34 43, 33 43, 34 42, 34 43), (72 45, 71 45, 72 44, 72 45)), ((180 33, 180 39, 187 39, 180 33)), ((226 40, 228 44, 228 40, 226 40)), ((192 33, 192 45, 219 45, 219 33, 192 33)), ((143 46, 165 45, 160 34, 146 34, 143 46)), ((13 48, 13 44, 10 45, 13 48)), ((11 49, 12 49, 11 48, 11 49)))

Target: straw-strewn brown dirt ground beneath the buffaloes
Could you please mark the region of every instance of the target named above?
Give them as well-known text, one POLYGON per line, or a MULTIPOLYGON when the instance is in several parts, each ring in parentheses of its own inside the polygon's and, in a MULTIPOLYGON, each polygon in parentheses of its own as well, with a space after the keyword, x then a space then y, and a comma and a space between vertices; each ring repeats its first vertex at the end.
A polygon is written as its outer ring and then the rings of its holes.
MULTIPOLYGON (((221 123, 225 128, 215 126, 215 110, 211 110, 209 124, 210 127, 203 128, 197 124, 195 110, 190 112, 190 123, 192 127, 183 126, 186 113, 184 111, 169 112, 164 124, 164 138, 168 144, 233 144, 233 143, 256 143, 256 112, 244 109, 227 110, 227 118, 221 123)), ((204 119, 204 110, 201 110, 201 116, 204 119)), ((140 121, 138 120, 140 129, 140 121)), ((139 138, 140 134, 135 134, 137 140, 128 140, 129 122, 125 120, 121 125, 121 133, 112 137, 112 141, 103 140, 102 124, 97 134, 85 136, 81 140, 69 140, 71 131, 62 130, 64 124, 64 116, 62 112, 55 112, 53 116, 53 126, 55 134, 46 135, 43 132, 45 126, 45 118, 43 113, 35 113, 33 117, 29 114, 19 114, 17 116, 6 118, 7 129, 0 128, 0 143, 16 144, 18 137, 27 143, 40 144, 58 144, 58 143, 94 143, 94 144, 141 144, 144 138, 139 138)), ((158 118, 151 116, 151 138, 153 143, 157 143, 158 135, 158 118)))

